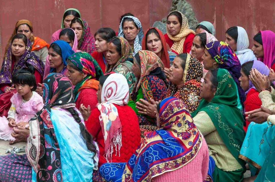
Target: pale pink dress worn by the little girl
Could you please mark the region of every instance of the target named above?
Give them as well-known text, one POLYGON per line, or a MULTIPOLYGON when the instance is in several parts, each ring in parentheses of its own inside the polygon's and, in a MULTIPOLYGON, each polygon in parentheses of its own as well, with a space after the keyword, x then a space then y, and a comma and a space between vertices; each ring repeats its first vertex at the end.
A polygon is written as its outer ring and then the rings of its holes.
MULTIPOLYGON (((34 114, 44 106, 42 97, 34 91, 32 97, 27 102, 22 102, 22 96, 18 93, 14 94, 10 101, 12 105, 7 118, 13 118, 16 124, 19 122, 29 122, 34 114)), ((14 141, 15 138, 10 135, 13 128, 9 127, 7 118, 5 116, 0 117, 0 139, 14 141)))

